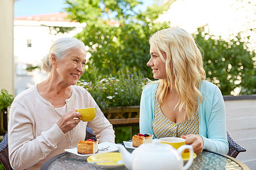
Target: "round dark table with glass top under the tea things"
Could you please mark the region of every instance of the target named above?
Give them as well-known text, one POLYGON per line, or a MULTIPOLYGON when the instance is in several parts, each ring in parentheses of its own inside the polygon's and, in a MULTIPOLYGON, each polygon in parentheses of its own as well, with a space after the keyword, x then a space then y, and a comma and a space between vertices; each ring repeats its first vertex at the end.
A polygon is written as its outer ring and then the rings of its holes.
MULTIPOLYGON (((128 151, 133 149, 127 148, 128 151)), ((104 169, 94 164, 88 164, 88 157, 77 156, 69 152, 59 154, 43 164, 41 170, 51 169, 104 169)), ((126 169, 125 166, 114 169, 126 169)), ((189 169, 248 169, 245 164, 239 162, 230 156, 221 155, 216 152, 204 150, 201 154, 197 154, 193 160, 193 164, 189 169)))

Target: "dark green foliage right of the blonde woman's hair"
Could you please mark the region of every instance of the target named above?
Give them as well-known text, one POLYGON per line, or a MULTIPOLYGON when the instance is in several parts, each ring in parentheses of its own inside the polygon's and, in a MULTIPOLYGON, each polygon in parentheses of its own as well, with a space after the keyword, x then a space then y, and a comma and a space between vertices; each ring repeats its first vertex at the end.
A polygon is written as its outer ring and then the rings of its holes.
POLYGON ((216 84, 223 95, 235 95, 235 88, 241 89, 240 95, 256 94, 256 55, 247 48, 240 33, 230 36, 230 40, 222 40, 199 28, 194 36, 204 50, 207 79, 216 84))

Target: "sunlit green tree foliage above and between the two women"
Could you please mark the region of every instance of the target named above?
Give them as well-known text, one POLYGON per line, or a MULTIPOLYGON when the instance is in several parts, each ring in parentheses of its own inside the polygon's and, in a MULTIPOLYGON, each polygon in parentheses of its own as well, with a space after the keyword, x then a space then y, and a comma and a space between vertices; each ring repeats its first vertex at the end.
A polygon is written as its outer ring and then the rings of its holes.
POLYGON ((89 63, 100 69, 100 73, 116 73, 127 67, 151 72, 146 66, 150 50, 148 38, 151 33, 168 27, 167 23, 154 23, 154 20, 170 3, 154 5, 141 12, 135 10, 141 4, 135 0, 66 2, 69 18, 87 24, 76 38, 88 45, 88 52, 92 54, 89 63))

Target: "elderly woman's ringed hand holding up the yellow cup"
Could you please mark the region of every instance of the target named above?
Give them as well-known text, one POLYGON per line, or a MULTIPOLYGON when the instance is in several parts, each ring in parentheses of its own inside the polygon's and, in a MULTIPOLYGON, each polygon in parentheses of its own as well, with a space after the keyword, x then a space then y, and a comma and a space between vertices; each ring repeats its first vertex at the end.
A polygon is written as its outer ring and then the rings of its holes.
POLYGON ((59 121, 57 121, 57 125, 63 131, 63 133, 67 133, 72 130, 79 124, 81 113, 76 111, 71 111, 64 114, 59 121), (75 118, 75 119, 74 119, 75 118))

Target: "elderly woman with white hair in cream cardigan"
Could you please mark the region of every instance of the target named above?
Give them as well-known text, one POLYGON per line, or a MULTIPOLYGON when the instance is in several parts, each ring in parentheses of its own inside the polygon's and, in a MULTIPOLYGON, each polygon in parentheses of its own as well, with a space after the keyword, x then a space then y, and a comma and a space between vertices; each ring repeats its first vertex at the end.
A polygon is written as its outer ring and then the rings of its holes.
POLYGON ((14 169, 39 169, 46 160, 85 139, 86 125, 99 142, 113 142, 113 126, 92 96, 76 86, 85 71, 85 46, 75 38, 53 42, 42 68, 43 82, 15 97, 9 115, 9 156, 14 169), (80 121, 74 109, 96 107, 93 121, 80 121))

